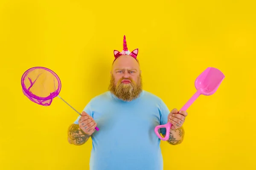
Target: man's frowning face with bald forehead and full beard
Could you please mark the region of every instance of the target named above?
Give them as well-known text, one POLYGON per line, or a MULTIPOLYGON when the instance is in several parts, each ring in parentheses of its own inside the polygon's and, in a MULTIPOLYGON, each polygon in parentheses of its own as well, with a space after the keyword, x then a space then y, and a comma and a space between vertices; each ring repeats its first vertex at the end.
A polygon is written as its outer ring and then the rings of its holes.
POLYGON ((142 92, 140 65, 131 56, 122 55, 113 63, 109 91, 123 101, 136 99, 142 92))

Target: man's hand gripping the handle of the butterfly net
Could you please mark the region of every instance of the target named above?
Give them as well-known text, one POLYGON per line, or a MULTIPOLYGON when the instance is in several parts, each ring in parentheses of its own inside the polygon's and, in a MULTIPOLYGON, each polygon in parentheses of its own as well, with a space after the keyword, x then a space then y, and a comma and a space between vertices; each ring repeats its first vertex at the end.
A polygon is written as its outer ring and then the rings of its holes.
POLYGON ((95 127, 97 123, 93 120, 91 116, 89 116, 85 111, 81 113, 81 117, 79 118, 79 127, 84 131, 85 134, 91 135, 95 131, 95 127))

